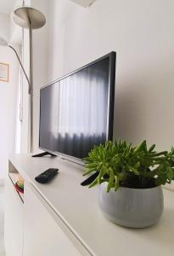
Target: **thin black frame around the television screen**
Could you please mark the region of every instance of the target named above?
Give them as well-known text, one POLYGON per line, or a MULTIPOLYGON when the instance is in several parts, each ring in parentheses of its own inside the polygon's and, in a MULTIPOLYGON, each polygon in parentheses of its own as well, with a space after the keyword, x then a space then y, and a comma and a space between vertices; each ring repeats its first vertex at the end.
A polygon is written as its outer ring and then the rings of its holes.
MULTIPOLYGON (((59 79, 56 79, 54 80, 53 82, 49 83, 49 84, 46 84, 44 86, 42 86, 40 88, 40 116, 39 116, 39 148, 42 149, 43 151, 46 151, 48 152, 48 154, 51 154, 51 155, 57 155, 59 156, 61 159, 65 159, 65 160, 70 160, 72 162, 75 162, 77 164, 82 164, 82 161, 81 159, 79 158, 76 158, 74 156, 71 156, 69 154, 64 154, 64 153, 61 153, 59 151, 51 151, 49 150, 48 148, 42 148, 40 146, 40 125, 41 125, 41 90, 43 88, 46 88, 52 84, 55 84, 55 83, 58 83, 60 80, 62 79, 65 79, 67 77, 69 77, 70 75, 74 74, 74 73, 77 73, 87 67, 90 67, 90 66, 93 66, 93 64, 97 63, 98 61, 102 61, 106 58, 109 57, 109 101, 108 101, 108 104, 109 104, 109 108, 108 108, 108 120, 107 120, 107 134, 106 134, 106 140, 113 140, 113 130, 114 130, 114 107, 115 107, 115 64, 116 64, 116 53, 115 51, 111 51, 109 54, 107 55, 104 55, 100 58, 98 58, 97 60, 95 61, 92 61, 90 63, 88 63, 87 65, 83 66, 83 67, 80 67, 78 69, 76 69, 75 71, 73 72, 70 72, 68 74, 66 74, 65 76, 63 77, 60 77, 59 79)), ((41 155, 44 155, 41 154, 41 155)))

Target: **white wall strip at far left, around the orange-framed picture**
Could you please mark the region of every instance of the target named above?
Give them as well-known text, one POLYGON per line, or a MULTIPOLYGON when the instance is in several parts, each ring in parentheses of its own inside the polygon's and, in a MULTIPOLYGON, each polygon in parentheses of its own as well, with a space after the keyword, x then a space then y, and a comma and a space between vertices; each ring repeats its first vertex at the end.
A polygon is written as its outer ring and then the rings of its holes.
POLYGON ((8 155, 15 151, 19 64, 14 52, 0 46, 0 62, 9 64, 9 82, 0 81, 0 179, 8 172, 8 155))

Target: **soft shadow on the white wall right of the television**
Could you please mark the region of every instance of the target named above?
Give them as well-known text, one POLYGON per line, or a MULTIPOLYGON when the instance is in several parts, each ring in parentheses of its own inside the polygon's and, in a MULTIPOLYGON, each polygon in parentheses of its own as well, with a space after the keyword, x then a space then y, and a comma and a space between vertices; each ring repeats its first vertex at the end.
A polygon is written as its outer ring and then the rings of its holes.
POLYGON ((121 83, 117 81, 114 137, 136 144, 146 139, 155 143, 158 150, 171 148, 173 93, 171 67, 149 67, 142 77, 137 74, 121 83))

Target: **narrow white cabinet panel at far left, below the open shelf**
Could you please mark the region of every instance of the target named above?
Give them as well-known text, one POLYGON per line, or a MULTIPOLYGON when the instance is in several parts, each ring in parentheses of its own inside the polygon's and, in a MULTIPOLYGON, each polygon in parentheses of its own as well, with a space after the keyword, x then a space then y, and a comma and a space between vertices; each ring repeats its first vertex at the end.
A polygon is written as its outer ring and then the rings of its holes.
POLYGON ((23 255, 24 205, 8 178, 5 188, 4 241, 7 256, 23 255))

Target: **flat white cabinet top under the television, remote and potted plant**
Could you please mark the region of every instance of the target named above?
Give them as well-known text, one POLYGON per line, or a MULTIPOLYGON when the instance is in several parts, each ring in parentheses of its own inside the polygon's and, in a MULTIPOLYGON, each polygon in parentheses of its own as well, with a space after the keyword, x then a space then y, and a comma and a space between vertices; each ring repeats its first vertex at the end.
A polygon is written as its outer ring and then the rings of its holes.
POLYGON ((59 157, 27 154, 15 154, 10 161, 93 255, 174 255, 174 192, 164 189, 165 211, 158 224, 126 229, 104 218, 98 207, 98 188, 81 187, 81 166, 59 157), (50 167, 59 168, 59 175, 49 184, 36 183, 34 177, 50 167))

